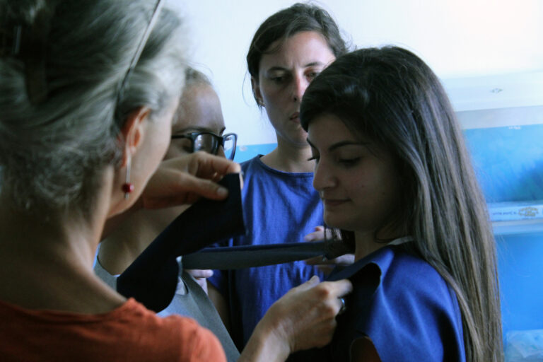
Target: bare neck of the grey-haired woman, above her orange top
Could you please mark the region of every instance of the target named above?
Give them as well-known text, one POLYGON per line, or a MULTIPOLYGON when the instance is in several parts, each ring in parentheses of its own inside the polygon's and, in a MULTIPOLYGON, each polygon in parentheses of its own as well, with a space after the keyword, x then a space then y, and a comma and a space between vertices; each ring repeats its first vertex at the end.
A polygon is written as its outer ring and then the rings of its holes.
POLYGON ((108 191, 100 189, 90 216, 30 214, 0 198, 0 300, 76 313, 105 313, 124 302, 92 269, 110 209, 108 191))

